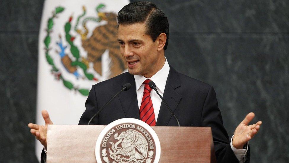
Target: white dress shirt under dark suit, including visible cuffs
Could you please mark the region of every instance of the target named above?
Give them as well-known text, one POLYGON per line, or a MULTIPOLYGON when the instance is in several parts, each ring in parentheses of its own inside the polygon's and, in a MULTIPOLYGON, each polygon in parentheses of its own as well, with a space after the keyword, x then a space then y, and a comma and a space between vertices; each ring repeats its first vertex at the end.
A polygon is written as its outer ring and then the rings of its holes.
MULTIPOLYGON (((166 59, 166 58, 165 58, 166 59)), ((152 80, 155 85, 156 88, 158 90, 158 92, 160 93, 161 96, 163 96, 163 92, 165 90, 166 87, 166 81, 168 79, 168 73, 170 72, 170 66, 168 65, 168 61, 166 59, 165 64, 163 65, 163 67, 157 72, 155 73, 155 75, 153 75, 150 80, 152 80)), ((136 90, 137 90, 137 103, 140 105, 142 103, 142 96, 144 95, 144 89, 145 89, 145 85, 143 84, 143 82, 147 79, 146 77, 142 76, 142 75, 134 75, 134 79, 136 82, 136 90)), ((158 119, 158 114, 160 112, 160 105, 162 103, 162 99, 158 96, 158 94, 155 91, 151 91, 150 92, 150 97, 152 99, 152 106, 154 108, 154 112, 155 112, 155 122, 158 119)), ((233 136, 234 137, 234 136, 233 136)), ((233 152, 235 153, 237 159, 239 160, 240 163, 243 163, 246 159, 246 155, 247 155, 247 149, 237 149, 232 145, 232 140, 233 137, 231 138, 231 148, 233 150, 233 152)), ((249 142, 247 143, 247 147, 249 145, 249 142)), ((46 148, 44 147, 44 152, 46 153, 46 148)))

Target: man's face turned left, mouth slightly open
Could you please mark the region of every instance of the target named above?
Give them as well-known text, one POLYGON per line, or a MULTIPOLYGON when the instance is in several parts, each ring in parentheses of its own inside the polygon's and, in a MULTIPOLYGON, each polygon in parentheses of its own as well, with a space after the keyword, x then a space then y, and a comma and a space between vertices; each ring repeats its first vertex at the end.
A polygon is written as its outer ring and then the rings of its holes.
POLYGON ((158 53, 158 41, 153 42, 145 28, 145 23, 120 24, 118 42, 129 73, 150 78, 163 66, 159 64, 164 56, 158 53))

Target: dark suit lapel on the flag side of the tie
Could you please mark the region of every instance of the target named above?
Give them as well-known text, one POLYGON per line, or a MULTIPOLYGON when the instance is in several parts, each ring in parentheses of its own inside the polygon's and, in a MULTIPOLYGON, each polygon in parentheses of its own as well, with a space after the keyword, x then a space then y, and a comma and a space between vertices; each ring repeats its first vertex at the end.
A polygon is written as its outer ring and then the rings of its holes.
POLYGON ((126 76, 124 76, 121 83, 121 87, 126 83, 131 83, 131 88, 128 91, 123 91, 121 94, 118 95, 118 98, 121 102, 121 107, 123 108, 126 118, 140 119, 134 76, 126 73, 126 76))

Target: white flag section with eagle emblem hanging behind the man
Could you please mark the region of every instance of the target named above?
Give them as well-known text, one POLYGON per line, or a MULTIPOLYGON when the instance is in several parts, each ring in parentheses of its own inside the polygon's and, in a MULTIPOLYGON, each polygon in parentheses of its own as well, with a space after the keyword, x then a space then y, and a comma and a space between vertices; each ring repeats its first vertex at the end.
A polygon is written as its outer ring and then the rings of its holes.
MULTIPOLYGON (((126 72, 116 16, 129 0, 46 0, 38 43, 36 124, 78 124, 91 86, 126 72)), ((43 146, 36 140, 40 160, 43 146)))

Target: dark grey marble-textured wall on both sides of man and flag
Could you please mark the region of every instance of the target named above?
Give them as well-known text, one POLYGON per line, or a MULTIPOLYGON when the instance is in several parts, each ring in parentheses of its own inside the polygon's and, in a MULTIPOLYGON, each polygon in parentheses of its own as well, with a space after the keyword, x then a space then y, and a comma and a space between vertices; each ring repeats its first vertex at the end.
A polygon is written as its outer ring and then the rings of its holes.
MULTIPOLYGON (((249 112, 262 120, 251 162, 289 160, 289 1, 152 1, 168 17, 166 57, 214 86, 229 136, 249 112)), ((37 162, 34 137, 43 0, 1 0, 0 162, 37 162)))

